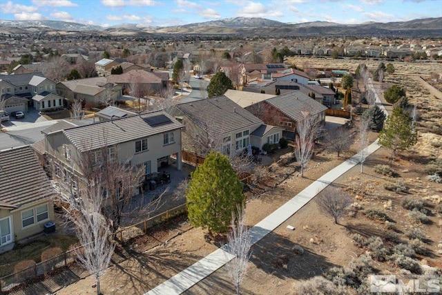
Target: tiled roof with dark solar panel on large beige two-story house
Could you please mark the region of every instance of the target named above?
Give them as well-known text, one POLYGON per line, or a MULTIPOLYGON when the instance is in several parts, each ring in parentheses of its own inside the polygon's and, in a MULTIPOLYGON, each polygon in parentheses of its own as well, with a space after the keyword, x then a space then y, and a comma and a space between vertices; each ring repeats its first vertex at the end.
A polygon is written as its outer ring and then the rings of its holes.
POLYGON ((182 127, 171 115, 156 111, 65 129, 63 133, 80 152, 84 152, 102 147, 103 136, 106 136, 106 145, 112 146, 182 127), (155 123, 156 119, 160 121, 155 123))

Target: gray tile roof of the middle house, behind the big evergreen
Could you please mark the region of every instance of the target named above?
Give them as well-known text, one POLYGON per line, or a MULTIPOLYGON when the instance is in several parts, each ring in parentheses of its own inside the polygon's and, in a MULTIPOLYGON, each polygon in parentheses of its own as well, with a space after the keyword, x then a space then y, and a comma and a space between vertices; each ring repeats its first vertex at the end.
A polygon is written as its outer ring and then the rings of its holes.
POLYGON ((254 124, 262 124, 258 117, 244 110, 224 95, 177 104, 175 107, 201 128, 204 129, 206 124, 211 124, 215 129, 219 129, 218 131, 221 133, 228 133, 254 124))

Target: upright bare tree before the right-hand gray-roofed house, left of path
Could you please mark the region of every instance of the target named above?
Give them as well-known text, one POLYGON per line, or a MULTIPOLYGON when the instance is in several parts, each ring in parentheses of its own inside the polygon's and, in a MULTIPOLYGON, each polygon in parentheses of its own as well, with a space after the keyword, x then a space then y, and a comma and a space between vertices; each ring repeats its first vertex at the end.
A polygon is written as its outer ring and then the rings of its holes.
POLYGON ((296 147, 294 155, 301 166, 301 176, 304 177, 304 169, 313 154, 314 141, 320 131, 319 115, 311 115, 303 111, 304 118, 296 123, 296 147))

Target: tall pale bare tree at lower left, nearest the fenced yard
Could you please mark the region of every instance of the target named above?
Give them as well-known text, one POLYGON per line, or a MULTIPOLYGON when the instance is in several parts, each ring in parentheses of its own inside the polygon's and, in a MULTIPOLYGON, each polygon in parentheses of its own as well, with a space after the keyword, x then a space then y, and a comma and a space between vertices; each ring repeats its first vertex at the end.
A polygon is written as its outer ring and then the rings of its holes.
POLYGON ((75 234, 81 244, 75 250, 79 263, 95 276, 97 294, 101 294, 100 278, 111 261, 115 245, 111 242, 111 227, 102 214, 102 181, 80 178, 66 173, 65 181, 57 186, 66 218, 75 225, 75 234))

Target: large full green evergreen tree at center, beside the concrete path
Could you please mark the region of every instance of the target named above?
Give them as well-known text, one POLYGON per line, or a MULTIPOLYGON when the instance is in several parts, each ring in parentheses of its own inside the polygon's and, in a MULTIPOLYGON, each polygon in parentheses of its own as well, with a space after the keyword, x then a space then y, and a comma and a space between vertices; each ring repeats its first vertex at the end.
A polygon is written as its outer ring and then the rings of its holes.
POLYGON ((218 151, 211 151, 191 173, 186 198, 191 225, 206 228, 211 234, 227 231, 232 211, 245 201, 229 158, 218 151))

